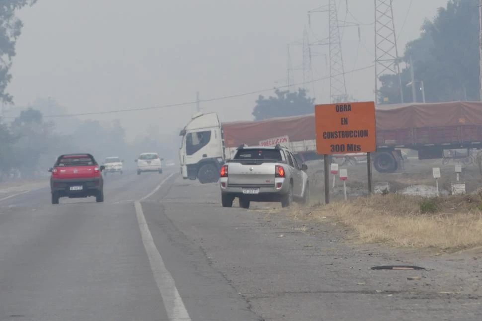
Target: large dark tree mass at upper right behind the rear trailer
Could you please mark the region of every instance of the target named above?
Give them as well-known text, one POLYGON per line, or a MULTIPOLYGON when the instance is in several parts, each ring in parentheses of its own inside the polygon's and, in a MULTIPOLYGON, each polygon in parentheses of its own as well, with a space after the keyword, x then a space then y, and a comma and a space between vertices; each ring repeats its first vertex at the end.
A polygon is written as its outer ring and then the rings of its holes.
MULTIPOLYGON (((426 20, 418 39, 405 47, 401 72, 404 101, 412 101, 409 61, 415 80, 424 82, 427 102, 479 100, 479 9, 478 0, 449 0, 433 21, 426 20)), ((383 75, 379 100, 401 102, 398 76, 383 75)), ((417 84, 416 100, 422 101, 417 84)))

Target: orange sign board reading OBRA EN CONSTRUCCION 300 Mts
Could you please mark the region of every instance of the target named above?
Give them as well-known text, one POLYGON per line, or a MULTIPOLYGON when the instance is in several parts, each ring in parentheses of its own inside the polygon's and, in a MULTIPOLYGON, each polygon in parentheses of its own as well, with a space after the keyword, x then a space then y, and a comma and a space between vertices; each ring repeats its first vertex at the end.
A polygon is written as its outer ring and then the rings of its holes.
POLYGON ((315 127, 318 154, 377 150, 373 101, 316 105, 315 127))

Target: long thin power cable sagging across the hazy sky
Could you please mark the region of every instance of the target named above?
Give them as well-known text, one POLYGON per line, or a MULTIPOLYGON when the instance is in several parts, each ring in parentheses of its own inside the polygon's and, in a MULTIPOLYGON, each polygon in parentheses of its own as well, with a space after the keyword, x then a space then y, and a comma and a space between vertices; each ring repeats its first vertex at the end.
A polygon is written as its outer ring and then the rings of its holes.
MULTIPOLYGON (((343 74, 351 74, 355 72, 359 72, 362 70, 370 69, 373 68, 374 65, 370 66, 365 66, 357 69, 353 69, 347 72, 344 72, 343 74)), ((340 76, 340 75, 336 75, 340 76)), ((277 86, 276 88, 289 88, 291 86, 299 86, 299 85, 304 85, 307 83, 312 83, 312 82, 318 82, 322 80, 328 80, 330 79, 329 76, 310 80, 310 81, 305 81, 305 82, 298 82, 294 84, 289 84, 289 85, 282 85, 282 86, 277 86)), ((153 109, 162 109, 162 108, 169 108, 169 107, 182 107, 182 106, 188 106, 188 105, 194 105, 197 102, 211 102, 211 101, 219 101, 219 100, 225 100, 225 99, 232 99, 232 98, 238 98, 242 96, 249 96, 257 93, 262 93, 266 91, 271 91, 273 88, 265 88, 265 89, 259 89, 259 90, 254 90, 254 91, 248 91, 248 92, 243 92, 243 93, 238 93, 234 95, 226 95, 226 96, 219 96, 215 98, 209 98, 209 99, 200 99, 200 100, 193 100, 193 101, 187 101, 187 102, 180 102, 180 103, 175 103, 175 104, 167 104, 167 105, 159 105, 159 106, 154 106, 154 107, 142 107, 142 108, 128 108, 128 109, 118 109, 118 110, 109 110, 109 111, 95 111, 95 112, 88 112, 88 113, 78 113, 78 114, 65 114, 65 115, 51 115, 51 116, 44 116, 44 118, 62 118, 62 117, 77 117, 77 116, 90 116, 90 115, 106 115, 106 114, 114 114, 114 113, 123 113, 123 112, 130 112, 130 111, 143 111, 143 110, 153 110, 153 109)), ((14 118, 14 117, 3 117, 3 118, 14 118)))

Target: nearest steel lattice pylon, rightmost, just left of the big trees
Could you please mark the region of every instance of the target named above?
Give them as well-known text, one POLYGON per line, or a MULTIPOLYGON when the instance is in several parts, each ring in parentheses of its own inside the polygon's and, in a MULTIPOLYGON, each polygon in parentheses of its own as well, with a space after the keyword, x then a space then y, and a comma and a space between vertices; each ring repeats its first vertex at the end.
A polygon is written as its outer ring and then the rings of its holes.
POLYGON ((386 73, 398 75, 403 102, 399 61, 392 0, 375 0, 375 102, 378 101, 378 79, 386 73))

